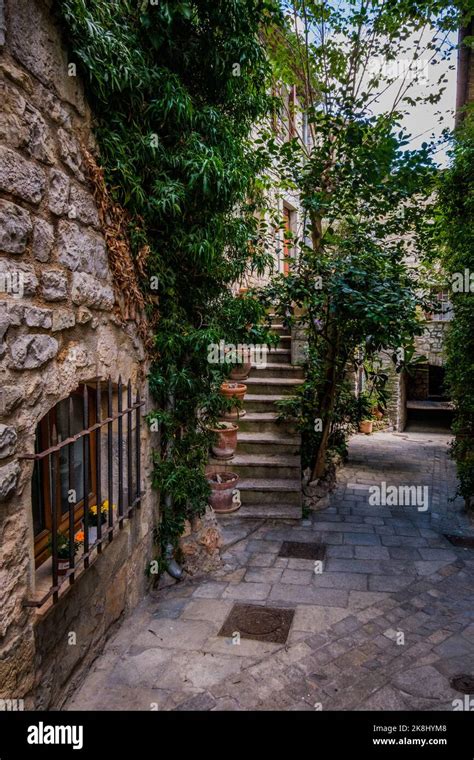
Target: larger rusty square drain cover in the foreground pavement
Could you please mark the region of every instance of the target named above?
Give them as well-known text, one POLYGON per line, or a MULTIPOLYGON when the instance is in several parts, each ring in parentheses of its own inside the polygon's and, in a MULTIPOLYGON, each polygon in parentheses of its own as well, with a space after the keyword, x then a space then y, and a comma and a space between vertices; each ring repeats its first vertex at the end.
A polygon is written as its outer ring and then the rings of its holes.
POLYGON ((284 644, 294 614, 295 611, 290 609, 234 604, 218 635, 232 638, 238 632, 242 639, 284 644))

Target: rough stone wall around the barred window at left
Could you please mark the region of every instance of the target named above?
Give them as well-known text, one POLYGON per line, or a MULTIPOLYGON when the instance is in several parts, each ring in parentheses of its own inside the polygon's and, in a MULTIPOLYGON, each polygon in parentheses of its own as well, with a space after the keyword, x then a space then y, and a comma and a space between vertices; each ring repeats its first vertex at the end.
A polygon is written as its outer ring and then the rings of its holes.
POLYGON ((149 434, 142 509, 55 606, 35 594, 31 461, 37 423, 79 383, 142 385, 133 322, 114 311, 82 146, 91 115, 48 0, 0 0, 0 696, 59 706, 113 624, 145 592, 152 546, 149 434), (76 644, 68 644, 68 633, 76 644))

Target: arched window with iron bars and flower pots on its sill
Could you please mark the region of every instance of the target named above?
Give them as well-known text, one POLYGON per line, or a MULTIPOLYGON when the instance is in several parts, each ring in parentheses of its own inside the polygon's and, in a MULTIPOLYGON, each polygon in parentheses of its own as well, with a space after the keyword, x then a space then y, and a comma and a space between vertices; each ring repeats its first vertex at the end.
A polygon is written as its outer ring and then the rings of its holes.
POLYGON ((35 453, 23 458, 34 461, 35 567, 44 593, 27 606, 56 602, 140 507, 142 407, 130 381, 114 387, 97 379, 39 422, 35 453))

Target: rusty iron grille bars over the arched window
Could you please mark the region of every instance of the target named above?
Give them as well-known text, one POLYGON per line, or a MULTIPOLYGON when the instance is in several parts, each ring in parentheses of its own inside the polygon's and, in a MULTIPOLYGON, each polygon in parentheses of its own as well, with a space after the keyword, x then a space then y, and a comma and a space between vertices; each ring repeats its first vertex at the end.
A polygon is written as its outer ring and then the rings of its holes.
MULTIPOLYGON (((77 394, 76 394, 77 396, 77 394)), ((51 587, 41 599, 29 599, 25 602, 28 607, 42 607, 51 597, 53 603, 59 599, 59 591, 64 584, 71 586, 76 574, 87 569, 94 556, 101 554, 103 549, 113 540, 114 533, 122 530, 124 521, 133 516, 135 509, 141 505, 140 490, 140 411, 144 402, 137 390, 135 400, 132 400, 132 385, 130 380, 124 386, 119 378, 117 392, 114 394, 112 380, 106 382, 106 398, 102 412, 103 390, 100 379, 95 381, 95 387, 88 383, 81 393, 83 429, 77 433, 71 430, 73 419, 73 397, 66 400, 68 408, 67 437, 51 445, 48 435, 48 445, 42 451, 35 450, 34 454, 26 454, 22 459, 33 460, 35 463, 33 488, 39 482, 38 472, 42 473, 42 488, 47 493, 47 505, 50 509, 48 525, 50 526, 51 550, 51 587), (126 406, 123 405, 123 395, 126 389, 126 406), (115 395, 115 398, 114 398, 115 395), (91 404, 94 414, 91 416, 91 404), (135 422, 135 425, 134 425, 135 422), (114 430, 115 426, 115 430, 114 430), (116 472, 114 472, 114 439, 117 452, 116 472), (75 480, 75 460, 81 451, 81 498, 77 498, 76 490, 72 488, 75 480), (76 452, 76 453, 75 453, 76 452), (60 472, 60 457, 66 464, 67 485, 67 520, 65 519, 63 488, 64 482, 57 477, 60 472), (105 461, 103 461, 105 458, 105 461), (125 466, 126 465, 126 466, 125 466), (36 474, 36 477, 35 477, 36 474), (91 481, 94 482, 91 482, 91 481), (105 482, 104 482, 105 481, 105 482), (92 489, 92 492, 91 492, 92 489), (71 498, 73 494, 73 498, 71 498), (103 498, 107 495, 108 505, 102 512, 103 498), (93 498, 92 498, 93 497, 93 498), (92 538, 90 527, 90 501, 94 500, 96 512, 96 535, 92 538), (77 542, 77 508, 83 503, 83 552, 76 557, 77 542), (115 503, 116 502, 116 503, 115 503), (102 523, 102 514, 104 522, 102 523), (58 543, 62 537, 67 538, 68 557, 60 558, 58 543), (59 564, 65 561, 67 569, 59 572, 59 564)), ((37 446, 35 447, 37 448, 37 446)), ((76 462, 77 464, 77 462, 76 462)), ((64 466, 63 470, 64 472, 64 466)))

